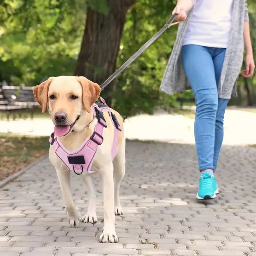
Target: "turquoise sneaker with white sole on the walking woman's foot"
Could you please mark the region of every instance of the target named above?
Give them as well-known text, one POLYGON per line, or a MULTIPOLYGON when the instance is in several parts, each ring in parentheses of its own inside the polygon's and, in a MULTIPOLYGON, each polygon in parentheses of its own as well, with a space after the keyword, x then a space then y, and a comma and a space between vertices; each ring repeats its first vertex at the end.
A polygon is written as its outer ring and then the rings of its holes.
MULTIPOLYGON (((213 178, 214 176, 210 173, 203 173, 199 179, 199 189, 196 195, 197 199, 212 199, 216 198, 215 190, 213 188, 213 178)), ((216 183, 216 179, 215 179, 216 183)), ((217 186, 217 185, 216 185, 217 186)))

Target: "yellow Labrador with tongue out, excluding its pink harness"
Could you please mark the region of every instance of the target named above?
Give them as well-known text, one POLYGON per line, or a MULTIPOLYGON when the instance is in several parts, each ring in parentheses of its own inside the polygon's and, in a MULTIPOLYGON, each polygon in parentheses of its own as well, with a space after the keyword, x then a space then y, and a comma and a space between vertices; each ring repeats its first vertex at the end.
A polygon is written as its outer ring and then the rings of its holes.
MULTIPOLYGON (((92 104, 99 98, 100 86, 83 76, 50 77, 33 89, 37 102, 42 107, 42 113, 48 109, 57 139, 69 151, 75 151, 93 134, 97 119, 92 111, 92 104)), ((104 228, 100 242, 115 243, 118 241, 115 231, 115 214, 122 215, 123 210, 119 200, 120 183, 125 174, 125 138, 122 117, 113 109, 121 131, 118 132, 116 153, 111 156, 111 146, 114 138, 114 126, 108 112, 103 112, 107 128, 103 129, 104 138, 98 147, 92 163, 92 170, 100 173, 103 185, 104 228), (113 177, 114 176, 114 177, 113 177)), ((87 214, 82 216, 72 198, 70 187, 70 170, 60 160, 50 145, 49 157, 54 165, 60 182, 67 217, 71 227, 77 227, 80 222, 95 223, 96 193, 92 184, 91 173, 82 173, 81 179, 89 189, 87 214)))

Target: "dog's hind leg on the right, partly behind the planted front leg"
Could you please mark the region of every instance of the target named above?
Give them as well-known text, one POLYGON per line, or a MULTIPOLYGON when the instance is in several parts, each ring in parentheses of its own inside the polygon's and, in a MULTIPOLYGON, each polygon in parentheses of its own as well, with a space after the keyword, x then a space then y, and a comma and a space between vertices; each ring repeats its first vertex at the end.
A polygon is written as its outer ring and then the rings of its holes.
POLYGON ((122 145, 117 152, 114 161, 114 189, 115 189, 115 214, 122 215, 123 209, 120 204, 119 189, 120 183, 125 174, 125 139, 122 141, 122 145))

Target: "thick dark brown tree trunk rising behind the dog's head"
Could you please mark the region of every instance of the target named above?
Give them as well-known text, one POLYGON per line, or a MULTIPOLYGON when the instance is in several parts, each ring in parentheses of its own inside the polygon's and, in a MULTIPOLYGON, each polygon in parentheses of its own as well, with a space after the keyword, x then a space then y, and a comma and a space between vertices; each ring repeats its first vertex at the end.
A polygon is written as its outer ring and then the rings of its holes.
MULTIPOLYGON (((107 0, 107 15, 87 9, 75 76, 86 76, 101 84, 115 72, 126 13, 134 2, 135 0, 107 0)), ((109 91, 109 87, 105 91, 109 91)), ((109 98, 105 100, 110 103, 109 98)))

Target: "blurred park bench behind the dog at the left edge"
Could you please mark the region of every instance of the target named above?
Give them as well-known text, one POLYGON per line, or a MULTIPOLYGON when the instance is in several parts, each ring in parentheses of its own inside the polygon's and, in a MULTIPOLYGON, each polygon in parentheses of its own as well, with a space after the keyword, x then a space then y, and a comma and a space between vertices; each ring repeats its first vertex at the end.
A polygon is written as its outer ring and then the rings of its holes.
POLYGON ((33 87, 0 85, 0 110, 5 111, 8 121, 11 113, 24 110, 28 110, 33 120, 34 107, 37 106, 39 104, 34 98, 33 87))

